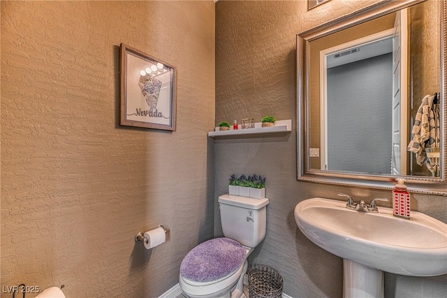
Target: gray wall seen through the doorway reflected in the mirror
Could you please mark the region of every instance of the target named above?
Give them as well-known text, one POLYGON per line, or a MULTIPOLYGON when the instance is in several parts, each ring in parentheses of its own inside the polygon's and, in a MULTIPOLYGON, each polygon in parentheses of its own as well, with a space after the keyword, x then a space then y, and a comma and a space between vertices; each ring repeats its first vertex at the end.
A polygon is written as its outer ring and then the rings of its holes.
POLYGON ((393 55, 328 69, 328 169, 390 173, 393 55))

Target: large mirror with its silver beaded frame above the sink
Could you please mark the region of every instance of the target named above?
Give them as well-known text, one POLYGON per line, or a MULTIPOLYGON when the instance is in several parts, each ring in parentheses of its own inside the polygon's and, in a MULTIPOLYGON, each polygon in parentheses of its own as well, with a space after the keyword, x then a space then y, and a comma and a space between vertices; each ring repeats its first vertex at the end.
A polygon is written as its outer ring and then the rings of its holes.
POLYGON ((447 195, 446 3, 391 2, 298 34, 298 180, 447 195))

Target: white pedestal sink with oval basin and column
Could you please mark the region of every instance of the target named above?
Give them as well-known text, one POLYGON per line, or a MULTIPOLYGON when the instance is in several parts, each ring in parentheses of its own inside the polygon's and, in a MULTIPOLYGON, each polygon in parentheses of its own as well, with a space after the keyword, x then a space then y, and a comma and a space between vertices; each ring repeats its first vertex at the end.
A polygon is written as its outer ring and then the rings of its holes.
POLYGON ((307 238, 343 260, 344 297, 383 297, 383 271, 406 276, 447 274, 447 225, 391 208, 363 213, 345 201, 313 198, 295 206, 295 222, 307 238))

